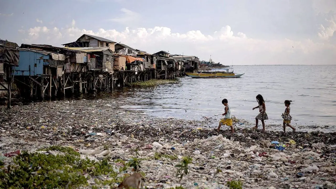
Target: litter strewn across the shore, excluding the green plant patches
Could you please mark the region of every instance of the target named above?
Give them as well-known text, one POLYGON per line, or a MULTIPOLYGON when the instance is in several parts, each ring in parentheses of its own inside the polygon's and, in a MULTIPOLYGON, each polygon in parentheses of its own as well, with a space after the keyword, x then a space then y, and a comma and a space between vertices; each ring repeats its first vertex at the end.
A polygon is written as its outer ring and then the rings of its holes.
MULTIPOLYGON (((145 158, 140 171, 146 175, 144 186, 148 188, 180 185, 184 188, 228 188, 226 182, 229 180, 240 180, 243 188, 334 186, 335 133, 288 132, 284 135, 275 131, 241 129, 230 134, 226 127, 217 133, 203 127, 209 124, 207 120, 153 117, 121 109, 121 105, 124 104, 112 99, 99 99, 41 102, 10 110, 0 108, 0 156, 16 150, 35 152, 52 145, 71 146, 78 152, 107 148, 110 152, 103 157, 117 168, 120 165, 116 159, 145 158), (296 144, 289 144, 284 151, 269 148, 271 141, 286 144, 290 139, 296 144), (155 159, 156 153, 164 155, 155 159), (169 158, 172 156, 177 159, 169 158), (193 161, 189 165, 190 173, 179 181, 174 166, 184 156, 192 157, 193 161), (314 166, 318 171, 303 172, 314 166), (222 172, 217 173, 218 169, 222 172), (297 173, 303 176, 298 178, 297 173)), ((97 155, 82 155, 102 159, 97 155)), ((4 166, 13 164, 13 158, 5 158, 4 166)), ((128 167, 118 178, 131 172, 132 168, 128 167)), ((103 186, 93 182, 93 178, 109 180, 103 175, 92 176, 84 188, 103 186)), ((112 188, 114 184, 103 188, 112 188)))

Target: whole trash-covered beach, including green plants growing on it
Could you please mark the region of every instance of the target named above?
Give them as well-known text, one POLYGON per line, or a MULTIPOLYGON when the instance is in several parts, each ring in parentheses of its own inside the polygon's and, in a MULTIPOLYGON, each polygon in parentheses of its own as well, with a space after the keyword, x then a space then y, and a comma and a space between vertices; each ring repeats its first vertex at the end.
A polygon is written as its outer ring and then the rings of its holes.
POLYGON ((51 186, 41 178, 59 188, 113 188, 134 171, 147 188, 336 188, 335 133, 261 132, 237 122, 236 133, 225 126, 217 133, 207 119, 153 117, 120 105, 104 99, 1 107, 0 188, 51 186), (175 166, 187 157, 180 179, 175 166), (64 166, 53 166, 56 160, 64 166))

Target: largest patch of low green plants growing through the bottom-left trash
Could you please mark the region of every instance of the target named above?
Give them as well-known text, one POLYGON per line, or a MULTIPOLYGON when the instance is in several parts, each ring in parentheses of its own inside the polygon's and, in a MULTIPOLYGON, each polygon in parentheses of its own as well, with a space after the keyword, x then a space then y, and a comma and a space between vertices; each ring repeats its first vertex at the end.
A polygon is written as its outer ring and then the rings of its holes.
POLYGON ((107 159, 81 159, 78 152, 68 147, 51 146, 41 150, 57 150, 64 155, 23 151, 13 158, 14 165, 0 170, 0 188, 79 188, 87 186, 88 179, 100 175, 107 175, 110 180, 95 179, 96 184, 121 182, 122 178, 117 177, 118 173, 114 172, 107 159))

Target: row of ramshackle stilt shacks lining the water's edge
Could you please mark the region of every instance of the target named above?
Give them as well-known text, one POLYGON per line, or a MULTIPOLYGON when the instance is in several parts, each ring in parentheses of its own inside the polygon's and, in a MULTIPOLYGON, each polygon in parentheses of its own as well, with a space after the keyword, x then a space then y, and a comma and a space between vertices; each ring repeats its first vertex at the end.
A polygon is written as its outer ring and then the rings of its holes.
POLYGON ((7 93, 8 107, 12 85, 20 97, 44 100, 89 90, 111 91, 136 81, 172 79, 212 64, 163 50, 150 54, 88 34, 63 46, 18 46, 0 40, 0 92, 7 93))

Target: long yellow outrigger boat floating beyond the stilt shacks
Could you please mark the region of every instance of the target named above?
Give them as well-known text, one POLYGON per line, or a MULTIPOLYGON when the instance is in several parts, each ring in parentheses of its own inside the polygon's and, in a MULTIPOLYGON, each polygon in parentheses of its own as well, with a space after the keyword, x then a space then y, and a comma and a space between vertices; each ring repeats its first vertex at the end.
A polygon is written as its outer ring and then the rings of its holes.
POLYGON ((233 72, 233 68, 225 68, 225 71, 213 71, 213 72, 197 72, 197 73, 185 73, 192 78, 239 78, 243 74, 236 74, 233 72), (229 71, 232 70, 232 71, 229 71))

